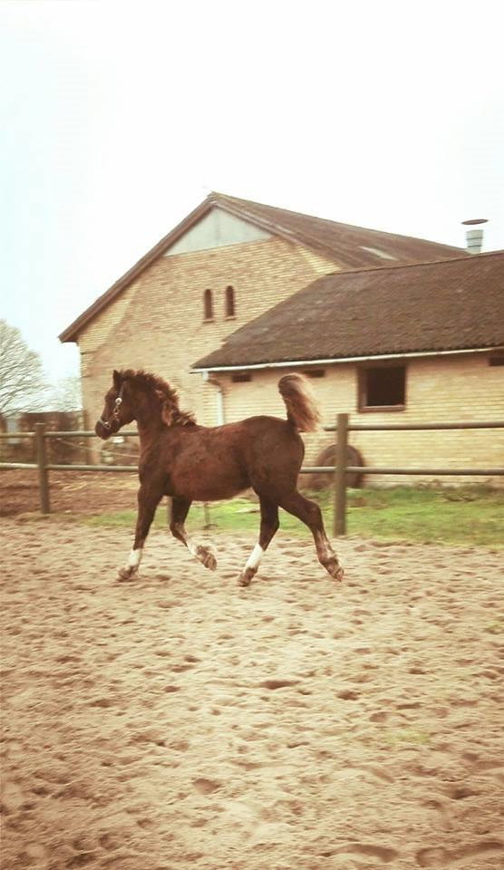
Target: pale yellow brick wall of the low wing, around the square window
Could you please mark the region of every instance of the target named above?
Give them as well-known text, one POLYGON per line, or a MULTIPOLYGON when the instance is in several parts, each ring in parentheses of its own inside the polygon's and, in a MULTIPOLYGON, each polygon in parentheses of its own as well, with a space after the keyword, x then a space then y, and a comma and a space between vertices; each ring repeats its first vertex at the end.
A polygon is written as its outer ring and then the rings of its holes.
MULTIPOLYGON (((226 419, 239 420, 254 413, 285 416, 285 406, 276 384, 288 369, 257 370, 253 380, 233 383, 221 374, 225 391, 226 419)), ((294 371, 294 369, 292 370, 294 371)), ((504 377, 491 367, 484 353, 416 358, 407 361, 407 401, 404 411, 359 413, 357 367, 354 363, 325 366, 325 378, 311 383, 323 410, 326 425, 337 413, 349 413, 351 422, 456 422, 502 420, 504 377)), ((305 464, 332 441, 331 433, 305 436, 305 464)), ((504 430, 457 430, 422 432, 352 432, 350 443, 359 449, 368 466, 417 468, 504 467, 504 430)), ((368 475, 367 486, 418 483, 432 478, 368 475)), ((486 478, 440 478, 444 485, 481 482, 486 478)), ((492 478, 503 486, 503 478, 492 478)))

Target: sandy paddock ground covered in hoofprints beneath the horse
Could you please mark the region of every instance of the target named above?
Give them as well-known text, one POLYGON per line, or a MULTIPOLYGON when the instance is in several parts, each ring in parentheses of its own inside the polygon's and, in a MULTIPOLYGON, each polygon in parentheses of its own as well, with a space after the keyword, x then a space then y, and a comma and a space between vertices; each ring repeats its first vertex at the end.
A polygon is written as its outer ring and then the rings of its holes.
POLYGON ((5 521, 5 870, 502 866, 502 555, 252 541, 5 521))

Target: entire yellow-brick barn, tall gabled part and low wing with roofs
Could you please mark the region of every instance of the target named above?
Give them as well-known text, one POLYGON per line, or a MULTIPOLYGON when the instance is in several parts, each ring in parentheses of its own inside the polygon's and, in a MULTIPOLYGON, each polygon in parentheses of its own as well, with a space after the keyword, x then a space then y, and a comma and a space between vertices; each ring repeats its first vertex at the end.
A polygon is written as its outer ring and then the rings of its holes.
MULTIPOLYGON (((276 381, 289 370, 314 379, 325 423, 338 411, 354 421, 497 419, 503 272, 501 253, 471 256, 212 193, 60 339, 79 345, 89 428, 113 368, 160 374, 206 425, 283 414, 276 381)), ((431 453, 438 467, 462 457, 488 467, 503 464, 503 437, 352 441, 367 465, 424 464, 431 453)), ((308 460, 330 440, 308 440, 308 460)))

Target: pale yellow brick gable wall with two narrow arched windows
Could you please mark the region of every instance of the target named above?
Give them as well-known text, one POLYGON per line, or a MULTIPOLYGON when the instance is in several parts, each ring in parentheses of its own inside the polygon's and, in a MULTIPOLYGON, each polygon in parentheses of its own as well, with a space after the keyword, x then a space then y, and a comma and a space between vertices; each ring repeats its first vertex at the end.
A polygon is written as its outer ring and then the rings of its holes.
POLYGON ((145 369, 175 385, 182 405, 215 423, 214 390, 189 374, 239 326, 295 294, 333 261, 283 239, 160 256, 79 334, 87 425, 102 411, 114 368, 145 369), (225 291, 235 288, 236 317, 225 316, 225 291), (214 320, 204 322, 203 294, 213 291, 214 320))

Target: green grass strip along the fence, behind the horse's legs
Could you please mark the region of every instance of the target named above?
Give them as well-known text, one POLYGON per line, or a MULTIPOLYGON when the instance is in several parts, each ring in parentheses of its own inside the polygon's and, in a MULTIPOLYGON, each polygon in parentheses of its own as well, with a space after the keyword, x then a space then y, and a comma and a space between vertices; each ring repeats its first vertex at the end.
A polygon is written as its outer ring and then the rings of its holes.
MULTIPOLYGON (((333 496, 330 490, 310 494, 323 510, 329 535, 333 526, 333 496)), ((470 544, 504 547, 504 491, 485 487, 352 489, 348 493, 349 535, 421 543, 470 544)), ((92 526, 134 527, 136 510, 86 517, 92 526)), ((211 504, 207 511, 194 504, 188 528, 208 522, 217 532, 257 533, 259 512, 254 498, 234 498, 211 504)), ((156 513, 155 525, 166 527, 166 505, 156 513)), ((288 535, 305 536, 296 517, 280 511, 280 527, 288 535)))

